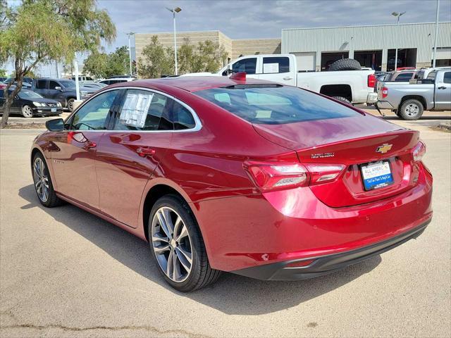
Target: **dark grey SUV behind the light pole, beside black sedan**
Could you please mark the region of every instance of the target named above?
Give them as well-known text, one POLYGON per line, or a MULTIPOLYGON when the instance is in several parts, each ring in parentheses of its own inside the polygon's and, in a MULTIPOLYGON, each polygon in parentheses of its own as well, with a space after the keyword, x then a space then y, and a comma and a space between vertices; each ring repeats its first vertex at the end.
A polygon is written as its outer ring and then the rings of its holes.
MULTIPOLYGON (((64 108, 73 110, 73 101, 77 99, 75 81, 68 79, 36 79, 33 82, 32 90, 41 94, 47 99, 59 101, 64 108)), ((80 87, 80 98, 86 99, 96 92, 96 89, 80 87)))

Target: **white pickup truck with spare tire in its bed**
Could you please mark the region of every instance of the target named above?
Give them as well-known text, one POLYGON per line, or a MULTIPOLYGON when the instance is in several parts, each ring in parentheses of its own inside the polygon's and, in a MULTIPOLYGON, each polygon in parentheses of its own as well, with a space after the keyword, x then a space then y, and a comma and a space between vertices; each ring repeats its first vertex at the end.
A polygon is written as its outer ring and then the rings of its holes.
POLYGON ((231 72, 246 72, 247 77, 309 89, 347 103, 372 104, 377 101, 377 93, 374 92, 374 70, 360 70, 359 63, 350 59, 335 61, 330 68, 339 70, 298 71, 296 56, 293 54, 259 54, 241 56, 218 73, 186 75, 229 75, 231 72))

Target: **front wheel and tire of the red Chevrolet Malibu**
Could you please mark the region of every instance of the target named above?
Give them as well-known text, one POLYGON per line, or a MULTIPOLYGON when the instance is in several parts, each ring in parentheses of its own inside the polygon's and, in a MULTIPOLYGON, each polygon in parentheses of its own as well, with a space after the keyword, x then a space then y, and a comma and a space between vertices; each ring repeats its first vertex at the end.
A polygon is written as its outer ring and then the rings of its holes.
POLYGON ((44 156, 39 152, 33 156, 32 176, 37 198, 43 206, 53 208, 54 206, 63 204, 63 200, 56 196, 54 185, 51 182, 49 168, 47 167, 44 156))

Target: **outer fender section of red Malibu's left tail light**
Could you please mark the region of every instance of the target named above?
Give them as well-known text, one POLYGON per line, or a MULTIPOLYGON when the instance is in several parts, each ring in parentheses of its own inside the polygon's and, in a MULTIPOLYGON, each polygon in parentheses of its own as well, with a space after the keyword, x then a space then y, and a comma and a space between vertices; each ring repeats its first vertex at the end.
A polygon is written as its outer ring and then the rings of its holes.
POLYGON ((309 175, 300 163, 266 163, 247 161, 244 164, 249 177, 261 190, 304 187, 309 183, 309 175))

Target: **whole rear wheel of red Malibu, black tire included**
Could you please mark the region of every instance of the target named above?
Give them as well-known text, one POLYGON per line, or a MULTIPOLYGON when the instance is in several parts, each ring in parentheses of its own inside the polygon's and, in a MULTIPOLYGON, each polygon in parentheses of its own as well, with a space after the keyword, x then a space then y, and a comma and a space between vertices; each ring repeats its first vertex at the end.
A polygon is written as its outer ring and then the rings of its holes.
POLYGON ((221 271, 211 268, 199 225, 180 196, 156 201, 147 226, 152 257, 171 287, 192 292, 218 280, 221 271))

